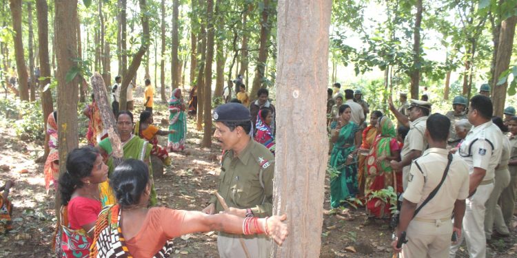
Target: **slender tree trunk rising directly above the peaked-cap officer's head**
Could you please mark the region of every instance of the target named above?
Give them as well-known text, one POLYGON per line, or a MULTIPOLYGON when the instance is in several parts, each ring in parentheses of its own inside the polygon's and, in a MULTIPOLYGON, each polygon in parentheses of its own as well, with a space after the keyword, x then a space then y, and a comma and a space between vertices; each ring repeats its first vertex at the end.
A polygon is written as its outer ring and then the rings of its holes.
POLYGON ((413 41, 413 67, 409 74, 411 78, 411 98, 418 100, 418 85, 420 84, 420 23, 422 23, 422 0, 416 0, 415 3, 415 27, 413 41))

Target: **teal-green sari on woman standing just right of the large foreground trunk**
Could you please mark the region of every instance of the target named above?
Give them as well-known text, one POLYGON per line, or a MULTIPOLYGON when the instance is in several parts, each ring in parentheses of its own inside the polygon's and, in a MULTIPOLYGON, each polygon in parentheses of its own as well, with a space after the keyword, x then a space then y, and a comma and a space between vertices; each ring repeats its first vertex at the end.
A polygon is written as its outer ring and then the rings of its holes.
POLYGON ((330 154, 330 166, 338 171, 338 175, 330 180, 330 206, 332 208, 341 206, 341 202, 349 197, 355 197, 358 191, 356 161, 345 164, 348 155, 356 149, 354 139, 358 129, 358 126, 352 121, 342 127, 330 154))

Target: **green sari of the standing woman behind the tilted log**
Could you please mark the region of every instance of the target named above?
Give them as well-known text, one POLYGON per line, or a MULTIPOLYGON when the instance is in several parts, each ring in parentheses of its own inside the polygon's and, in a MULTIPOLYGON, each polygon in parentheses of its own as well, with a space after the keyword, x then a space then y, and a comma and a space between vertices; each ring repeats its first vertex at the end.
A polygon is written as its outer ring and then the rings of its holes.
MULTIPOLYGON (((151 179, 151 197, 149 200, 150 206, 156 205, 156 190, 154 190, 154 180, 152 179, 152 165, 151 165, 151 149, 152 144, 150 144, 146 140, 142 140, 137 136, 131 136, 132 138, 122 144, 122 149, 124 151, 124 160, 128 160, 130 158, 135 160, 142 160, 146 164, 149 165, 149 176, 151 179)), ((113 173, 115 169, 113 166, 113 157, 112 154, 112 146, 109 138, 105 138, 99 142, 99 147, 101 147, 106 153, 108 153, 108 175, 113 173)))

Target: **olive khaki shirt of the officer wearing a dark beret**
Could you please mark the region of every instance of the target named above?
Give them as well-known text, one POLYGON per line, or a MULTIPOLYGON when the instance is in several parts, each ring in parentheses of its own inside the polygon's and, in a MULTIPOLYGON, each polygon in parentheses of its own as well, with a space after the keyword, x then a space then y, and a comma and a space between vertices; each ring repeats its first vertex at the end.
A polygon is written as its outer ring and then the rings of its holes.
MULTIPOLYGON (((271 216, 273 176, 273 154, 264 145, 250 139, 239 156, 234 157, 234 151, 226 151, 223 155, 217 191, 228 207, 251 208, 255 217, 271 216), (259 181, 261 170, 264 186, 259 181)), ((215 196, 210 203, 216 204, 216 213, 224 211, 215 196)))

